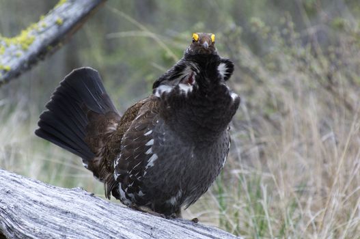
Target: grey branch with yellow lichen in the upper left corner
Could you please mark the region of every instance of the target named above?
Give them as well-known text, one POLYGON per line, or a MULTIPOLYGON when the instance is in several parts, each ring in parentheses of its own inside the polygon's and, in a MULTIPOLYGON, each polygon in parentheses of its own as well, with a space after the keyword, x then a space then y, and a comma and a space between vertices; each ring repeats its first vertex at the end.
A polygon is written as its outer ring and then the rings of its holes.
POLYGON ((59 1, 38 23, 14 38, 0 37, 0 85, 54 53, 106 0, 59 1))

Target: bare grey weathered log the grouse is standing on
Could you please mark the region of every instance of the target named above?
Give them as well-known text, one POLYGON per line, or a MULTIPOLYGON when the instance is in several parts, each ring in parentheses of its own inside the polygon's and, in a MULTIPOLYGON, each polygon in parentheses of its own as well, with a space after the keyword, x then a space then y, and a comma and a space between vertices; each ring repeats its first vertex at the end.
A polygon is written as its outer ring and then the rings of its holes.
POLYGON ((0 169, 0 238, 236 238, 0 169))

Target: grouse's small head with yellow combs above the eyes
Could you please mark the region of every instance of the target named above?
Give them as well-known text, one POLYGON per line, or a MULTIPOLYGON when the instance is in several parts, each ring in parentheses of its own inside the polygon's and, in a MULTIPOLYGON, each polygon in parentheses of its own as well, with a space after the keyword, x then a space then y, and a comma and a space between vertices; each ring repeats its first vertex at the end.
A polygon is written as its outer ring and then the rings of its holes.
POLYGON ((188 55, 217 55, 215 35, 212 33, 193 33, 193 42, 186 48, 188 55))

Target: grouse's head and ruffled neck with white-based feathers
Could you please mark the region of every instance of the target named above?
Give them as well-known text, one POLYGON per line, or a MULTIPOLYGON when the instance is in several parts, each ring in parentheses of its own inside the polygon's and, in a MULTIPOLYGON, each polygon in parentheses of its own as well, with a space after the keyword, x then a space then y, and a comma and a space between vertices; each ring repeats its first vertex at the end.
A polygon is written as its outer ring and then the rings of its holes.
POLYGON ((184 57, 152 85, 154 95, 161 96, 163 92, 169 93, 176 88, 187 95, 195 88, 210 89, 210 85, 227 81, 234 71, 234 64, 221 58, 214 44, 214 34, 193 33, 193 40, 186 48, 184 57))

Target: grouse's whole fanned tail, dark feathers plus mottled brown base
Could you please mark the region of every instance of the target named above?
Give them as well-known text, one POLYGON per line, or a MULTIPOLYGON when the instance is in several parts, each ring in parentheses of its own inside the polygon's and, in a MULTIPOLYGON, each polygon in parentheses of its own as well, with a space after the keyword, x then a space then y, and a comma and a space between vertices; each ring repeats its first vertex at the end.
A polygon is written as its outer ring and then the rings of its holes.
POLYGON ((46 108, 35 134, 83 158, 85 167, 99 180, 104 181, 112 174, 102 154, 120 115, 98 72, 92 68, 70 72, 55 89, 46 108))

